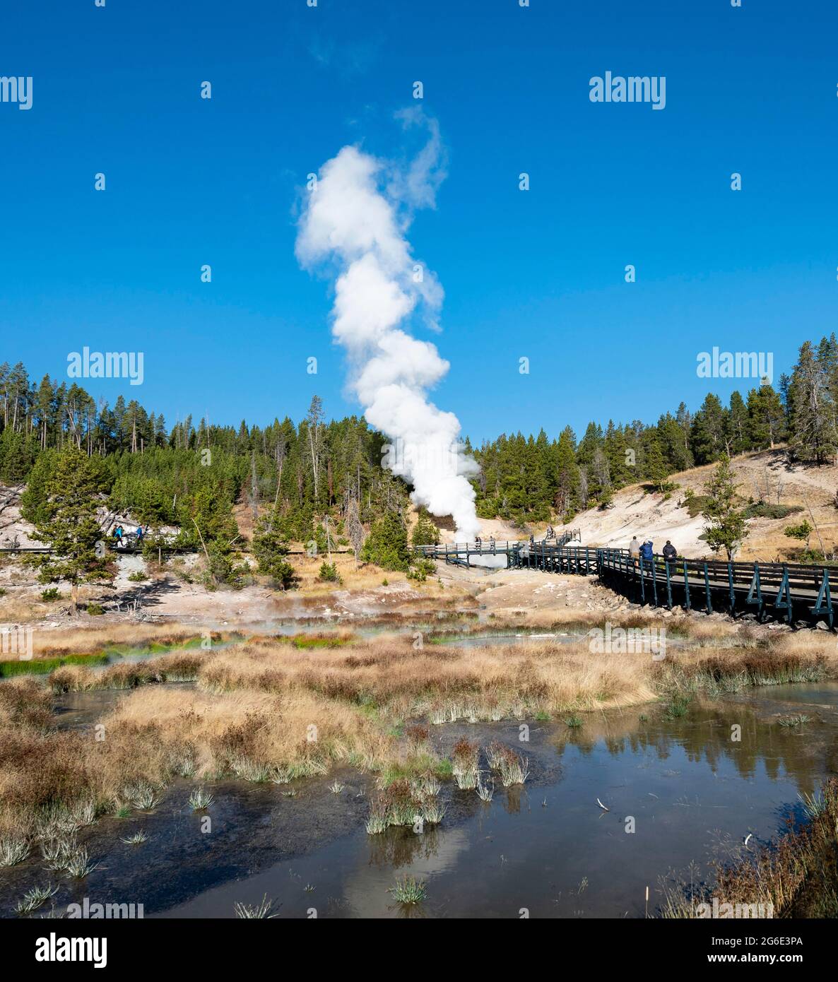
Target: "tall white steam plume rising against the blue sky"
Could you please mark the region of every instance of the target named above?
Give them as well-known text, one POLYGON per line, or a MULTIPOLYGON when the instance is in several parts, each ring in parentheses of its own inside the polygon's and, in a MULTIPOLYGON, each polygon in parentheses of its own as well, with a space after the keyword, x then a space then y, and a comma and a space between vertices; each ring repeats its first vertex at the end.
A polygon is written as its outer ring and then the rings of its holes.
POLYGON ((405 238, 411 209, 432 206, 444 177, 438 127, 415 112, 402 119, 430 130, 407 173, 387 174, 382 161, 345 146, 323 164, 309 193, 297 255, 307 267, 328 257, 339 264, 332 333, 349 355, 352 388, 367 421, 391 440, 384 464, 413 484, 415 504, 452 516, 458 533, 471 539, 479 523, 468 476, 477 466, 458 444, 457 416, 427 398, 449 363, 400 326, 420 310, 435 327, 443 297, 405 238))

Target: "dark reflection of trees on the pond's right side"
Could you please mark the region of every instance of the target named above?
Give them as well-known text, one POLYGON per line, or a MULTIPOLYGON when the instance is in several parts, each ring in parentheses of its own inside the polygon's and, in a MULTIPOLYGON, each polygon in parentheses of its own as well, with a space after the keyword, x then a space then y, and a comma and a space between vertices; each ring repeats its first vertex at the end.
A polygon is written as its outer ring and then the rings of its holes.
POLYGON ((771 781, 788 776, 801 793, 819 786, 816 775, 824 766, 838 770, 838 735, 818 722, 816 710, 810 711, 811 722, 803 728, 767 722, 744 703, 691 706, 685 717, 676 720, 665 719, 664 711, 663 705, 648 710, 646 722, 639 711, 624 711, 622 716, 590 714, 580 729, 559 733, 554 738, 556 747, 561 754, 572 745, 584 756, 602 746, 615 757, 653 751, 658 760, 667 760, 673 749, 681 747, 691 763, 706 761, 714 773, 726 758, 740 777, 751 780, 761 765, 771 781), (731 739, 733 726, 742 728, 738 741, 731 739))

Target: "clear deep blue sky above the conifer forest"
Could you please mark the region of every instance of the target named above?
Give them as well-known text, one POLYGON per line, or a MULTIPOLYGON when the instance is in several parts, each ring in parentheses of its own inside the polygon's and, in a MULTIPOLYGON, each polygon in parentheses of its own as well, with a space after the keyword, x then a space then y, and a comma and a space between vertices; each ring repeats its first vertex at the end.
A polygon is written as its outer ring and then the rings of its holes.
POLYGON ((836 27, 834 0, 7 4, 0 75, 34 82, 0 103, 0 361, 142 351, 142 386, 83 384, 169 424, 358 411, 295 206, 346 143, 399 157, 420 80, 449 155, 410 233, 446 293, 434 401, 477 441, 698 408, 734 387, 698 352, 778 375, 838 329, 836 27), (591 103, 606 71, 665 76, 665 110, 591 103))

